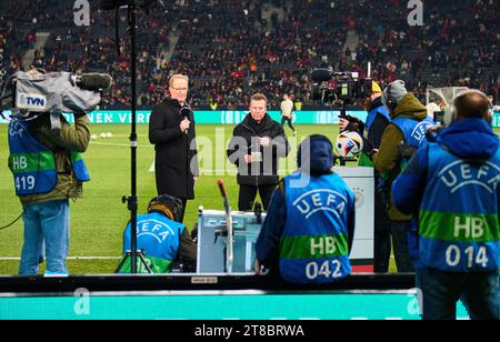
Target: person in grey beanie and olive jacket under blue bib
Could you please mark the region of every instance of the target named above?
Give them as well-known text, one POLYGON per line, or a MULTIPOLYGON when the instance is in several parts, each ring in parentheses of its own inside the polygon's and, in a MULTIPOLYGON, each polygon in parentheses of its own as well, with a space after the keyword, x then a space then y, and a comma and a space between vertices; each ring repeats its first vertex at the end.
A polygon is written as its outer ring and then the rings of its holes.
POLYGON ((412 272, 407 232, 410 231, 411 215, 401 213, 392 204, 390 189, 411 152, 427 145, 426 131, 434 122, 428 118, 426 107, 397 80, 383 91, 382 102, 388 107, 391 123, 383 132, 380 148, 373 149, 372 160, 381 178, 387 179, 384 193, 388 200, 388 215, 391 221, 392 244, 398 272, 412 272), (403 148, 402 148, 403 147, 403 148))

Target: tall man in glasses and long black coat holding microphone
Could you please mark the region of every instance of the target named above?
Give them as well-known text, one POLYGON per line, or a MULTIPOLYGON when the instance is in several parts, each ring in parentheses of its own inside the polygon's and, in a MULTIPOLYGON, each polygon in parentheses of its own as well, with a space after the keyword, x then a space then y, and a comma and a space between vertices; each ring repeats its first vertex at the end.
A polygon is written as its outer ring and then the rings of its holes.
POLYGON ((169 81, 170 97, 158 104, 149 122, 149 141, 154 144, 158 194, 182 201, 194 199, 194 178, 199 175, 194 118, 188 99, 189 79, 174 74, 169 81))

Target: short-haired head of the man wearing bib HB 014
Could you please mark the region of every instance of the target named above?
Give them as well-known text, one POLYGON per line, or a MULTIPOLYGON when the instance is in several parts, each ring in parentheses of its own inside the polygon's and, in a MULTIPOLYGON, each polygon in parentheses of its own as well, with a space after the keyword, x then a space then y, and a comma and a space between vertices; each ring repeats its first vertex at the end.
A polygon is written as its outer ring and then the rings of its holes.
POLYGON ((457 119, 484 119, 489 120, 491 102, 480 91, 466 92, 453 101, 457 110, 457 119))

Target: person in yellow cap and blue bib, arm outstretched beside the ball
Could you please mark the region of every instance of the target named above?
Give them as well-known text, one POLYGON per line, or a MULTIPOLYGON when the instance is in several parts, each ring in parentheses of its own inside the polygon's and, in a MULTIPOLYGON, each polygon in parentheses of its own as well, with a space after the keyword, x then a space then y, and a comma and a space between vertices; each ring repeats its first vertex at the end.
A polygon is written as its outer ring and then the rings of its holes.
MULTIPOLYGON (((358 131, 363 137, 363 151, 359 158, 360 167, 373 168, 370 152, 380 147, 383 131, 391 122, 389 111, 382 103, 382 89, 374 81, 371 83, 371 95, 364 101, 368 111, 366 123, 357 118, 340 118, 340 131, 358 131)), ((391 223, 387 213, 388 198, 383 191, 386 180, 374 170, 374 272, 388 272, 391 256, 391 223)))

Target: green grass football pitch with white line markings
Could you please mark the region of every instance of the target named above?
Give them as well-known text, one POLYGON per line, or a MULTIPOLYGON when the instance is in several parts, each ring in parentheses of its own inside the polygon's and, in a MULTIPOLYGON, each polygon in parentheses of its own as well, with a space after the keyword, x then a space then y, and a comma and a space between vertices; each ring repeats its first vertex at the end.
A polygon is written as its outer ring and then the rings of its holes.
MULTIPOLYGON (((21 204, 13 191, 12 175, 7 167, 7 124, 0 124, 0 227, 21 213, 21 204)), ((192 228, 198 208, 222 210, 222 200, 216 182, 222 179, 237 209, 238 185, 234 168, 227 162, 226 145, 231 138, 231 125, 198 125, 197 137, 202 175, 196 184, 196 200, 188 202, 186 224, 192 228), (226 170, 226 171, 224 171, 226 170)), ((322 133, 334 140, 336 125, 299 125, 298 137, 286 128, 293 148, 289 158, 281 161, 281 174, 296 168, 297 143, 303 137, 322 133)), ((497 130, 497 133, 500 131, 497 130)), ((84 197, 71 202, 69 271, 77 274, 112 273, 122 249, 122 232, 130 219, 122 195, 130 195, 131 157, 130 125, 91 125, 92 140, 84 159, 91 181, 84 184, 84 197), (113 138, 100 138, 111 132, 113 138)), ((150 172, 154 150, 148 141, 148 125, 138 125, 137 181, 139 213, 146 211, 148 201, 156 195, 154 173, 150 172)), ((0 231, 0 274, 16 274, 22 247, 22 220, 0 231)), ((393 270, 393 265, 391 266, 393 270)))

